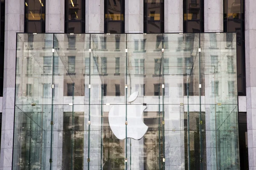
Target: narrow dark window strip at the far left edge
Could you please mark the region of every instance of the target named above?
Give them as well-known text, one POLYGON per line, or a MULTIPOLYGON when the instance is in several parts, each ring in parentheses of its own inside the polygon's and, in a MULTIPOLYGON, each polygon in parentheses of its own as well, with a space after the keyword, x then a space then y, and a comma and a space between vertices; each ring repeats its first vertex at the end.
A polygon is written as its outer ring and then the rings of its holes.
POLYGON ((3 96, 5 1, 0 0, 0 96, 3 96))

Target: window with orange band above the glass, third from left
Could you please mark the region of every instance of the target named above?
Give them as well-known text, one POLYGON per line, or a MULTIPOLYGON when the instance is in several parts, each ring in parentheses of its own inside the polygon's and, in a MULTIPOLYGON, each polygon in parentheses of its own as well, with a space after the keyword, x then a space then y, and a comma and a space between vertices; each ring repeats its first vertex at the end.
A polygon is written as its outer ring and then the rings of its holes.
POLYGON ((125 33, 125 0, 105 0, 105 33, 125 33))

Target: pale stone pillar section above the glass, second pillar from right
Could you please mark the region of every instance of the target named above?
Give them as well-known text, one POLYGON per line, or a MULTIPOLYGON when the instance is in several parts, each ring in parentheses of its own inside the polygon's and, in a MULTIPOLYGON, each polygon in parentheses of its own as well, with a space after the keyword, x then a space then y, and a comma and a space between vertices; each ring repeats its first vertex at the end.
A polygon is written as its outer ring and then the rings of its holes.
POLYGON ((204 32, 223 32, 223 0, 204 0, 204 32))

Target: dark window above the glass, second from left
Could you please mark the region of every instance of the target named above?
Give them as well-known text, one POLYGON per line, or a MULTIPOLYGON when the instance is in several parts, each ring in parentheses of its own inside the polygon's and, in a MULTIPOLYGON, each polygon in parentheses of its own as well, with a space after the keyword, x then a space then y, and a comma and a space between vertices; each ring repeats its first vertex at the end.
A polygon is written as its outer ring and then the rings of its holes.
POLYGON ((85 33, 85 0, 65 0, 65 33, 85 33))

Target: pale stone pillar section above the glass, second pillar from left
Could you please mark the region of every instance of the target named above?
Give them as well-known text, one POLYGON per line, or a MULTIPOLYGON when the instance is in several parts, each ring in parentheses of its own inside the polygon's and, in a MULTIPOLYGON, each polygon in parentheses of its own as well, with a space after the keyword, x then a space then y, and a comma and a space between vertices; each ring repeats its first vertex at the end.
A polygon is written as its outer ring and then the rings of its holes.
POLYGON ((64 5, 63 0, 46 0, 46 33, 64 32, 64 5))

